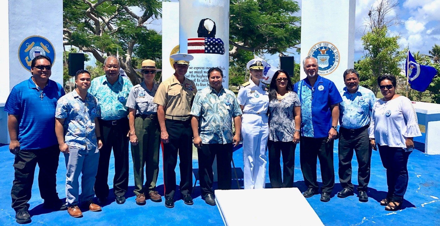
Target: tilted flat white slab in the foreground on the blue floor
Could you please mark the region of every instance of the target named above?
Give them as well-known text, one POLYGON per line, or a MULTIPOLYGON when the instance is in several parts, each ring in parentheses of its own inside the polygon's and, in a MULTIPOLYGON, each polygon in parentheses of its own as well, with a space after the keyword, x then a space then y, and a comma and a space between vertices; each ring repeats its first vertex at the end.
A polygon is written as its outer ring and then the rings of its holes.
POLYGON ((226 226, 323 226, 297 188, 216 190, 216 204, 226 226))

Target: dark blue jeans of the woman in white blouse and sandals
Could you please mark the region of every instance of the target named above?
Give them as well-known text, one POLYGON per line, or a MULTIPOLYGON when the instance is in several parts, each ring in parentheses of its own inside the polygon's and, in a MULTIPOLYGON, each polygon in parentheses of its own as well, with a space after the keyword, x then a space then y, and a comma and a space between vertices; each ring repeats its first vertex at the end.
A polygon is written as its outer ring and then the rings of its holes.
POLYGON ((411 152, 398 147, 379 146, 379 154, 386 169, 387 197, 401 202, 408 187, 407 164, 411 152))

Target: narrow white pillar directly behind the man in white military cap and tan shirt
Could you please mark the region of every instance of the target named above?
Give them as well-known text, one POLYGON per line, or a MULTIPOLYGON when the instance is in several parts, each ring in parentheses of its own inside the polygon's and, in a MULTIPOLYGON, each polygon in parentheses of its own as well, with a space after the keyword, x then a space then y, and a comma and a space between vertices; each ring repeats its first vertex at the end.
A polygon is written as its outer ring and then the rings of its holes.
POLYGON ((174 74, 170 55, 179 53, 179 3, 162 2, 162 81, 174 74))

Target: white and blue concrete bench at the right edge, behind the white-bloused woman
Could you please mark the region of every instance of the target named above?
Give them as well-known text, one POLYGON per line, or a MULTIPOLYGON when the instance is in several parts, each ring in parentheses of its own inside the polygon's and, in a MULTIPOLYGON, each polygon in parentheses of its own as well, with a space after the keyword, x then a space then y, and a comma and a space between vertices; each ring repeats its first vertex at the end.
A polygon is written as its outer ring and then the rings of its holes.
POLYGON ((425 153, 440 154, 440 104, 415 102, 418 124, 425 126, 425 153))

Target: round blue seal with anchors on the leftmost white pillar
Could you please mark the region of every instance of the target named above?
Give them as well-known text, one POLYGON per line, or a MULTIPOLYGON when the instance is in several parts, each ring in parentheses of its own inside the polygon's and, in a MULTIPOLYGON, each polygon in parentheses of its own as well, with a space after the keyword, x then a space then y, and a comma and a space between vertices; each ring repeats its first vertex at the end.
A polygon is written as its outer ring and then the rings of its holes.
POLYGON ((55 49, 45 37, 29 36, 18 47, 18 59, 28 71, 30 71, 32 59, 38 55, 45 55, 51 58, 52 65, 55 62, 55 49))

